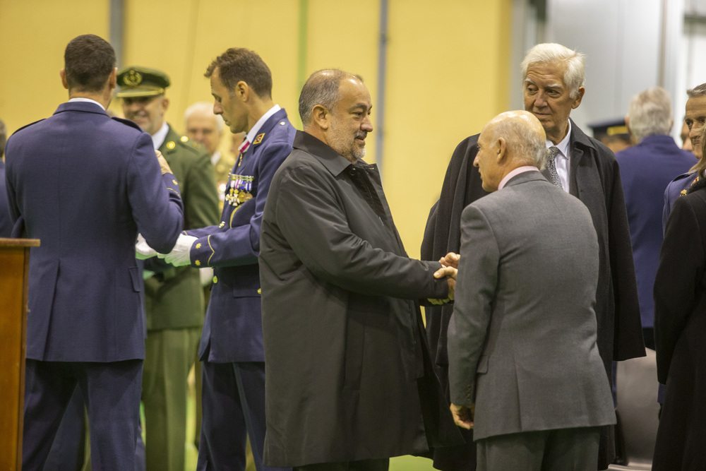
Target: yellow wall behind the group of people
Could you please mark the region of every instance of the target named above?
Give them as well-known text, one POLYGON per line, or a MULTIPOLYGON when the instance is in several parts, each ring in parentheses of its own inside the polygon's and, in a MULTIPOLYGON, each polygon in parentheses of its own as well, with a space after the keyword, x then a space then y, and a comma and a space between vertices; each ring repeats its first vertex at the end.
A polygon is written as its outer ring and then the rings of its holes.
MULTIPOLYGON (((203 72, 228 47, 260 54, 273 98, 299 127, 299 26, 307 6, 304 75, 338 67, 364 76, 378 102, 379 0, 124 0, 122 66, 160 68, 172 78, 167 120, 210 100, 203 72)), ((389 0, 383 182, 410 256, 438 198, 455 145, 508 103, 511 0, 389 0)), ((47 117, 66 90, 66 43, 109 37, 109 0, 0 0, 0 118, 9 131, 47 117), (70 9, 67 5, 70 5, 70 9)), ((117 100, 116 100, 117 101, 117 100)), ((111 108, 121 114, 119 102, 111 108)), ((227 152, 228 139, 222 150, 227 152)), ((376 133, 366 160, 376 162, 376 133)))

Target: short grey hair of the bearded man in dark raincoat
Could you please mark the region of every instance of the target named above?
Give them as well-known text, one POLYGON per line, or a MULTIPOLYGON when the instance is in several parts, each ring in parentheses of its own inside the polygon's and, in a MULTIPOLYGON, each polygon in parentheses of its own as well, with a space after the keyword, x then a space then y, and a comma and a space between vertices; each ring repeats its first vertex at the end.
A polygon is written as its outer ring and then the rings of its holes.
POLYGON ((333 110, 341 99, 338 87, 341 81, 346 78, 357 78, 363 81, 363 78, 354 73, 342 71, 338 68, 325 68, 316 71, 306 79, 304 87, 301 88, 299 95, 299 117, 301 124, 306 126, 311 123, 313 118, 311 112, 313 107, 321 105, 325 109, 333 110))

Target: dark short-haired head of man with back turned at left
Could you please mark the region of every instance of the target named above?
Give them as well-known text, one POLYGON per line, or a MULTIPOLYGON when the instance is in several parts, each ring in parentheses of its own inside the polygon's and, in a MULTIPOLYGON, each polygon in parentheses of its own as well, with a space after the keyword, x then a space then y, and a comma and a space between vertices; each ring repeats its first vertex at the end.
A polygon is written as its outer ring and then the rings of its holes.
POLYGON ((96 35, 74 37, 64 52, 68 90, 95 93, 103 90, 116 66, 115 51, 96 35))

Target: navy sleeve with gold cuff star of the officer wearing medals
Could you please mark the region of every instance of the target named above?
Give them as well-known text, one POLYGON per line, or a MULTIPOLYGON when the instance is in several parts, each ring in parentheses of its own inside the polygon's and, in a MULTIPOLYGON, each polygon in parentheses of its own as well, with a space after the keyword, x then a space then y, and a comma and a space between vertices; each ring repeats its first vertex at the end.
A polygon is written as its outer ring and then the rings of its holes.
POLYGON ((258 159, 258 190, 253 198, 255 209, 247 224, 224 229, 214 226, 187 232, 199 237, 191 249, 192 264, 197 259, 207 260, 208 266, 213 267, 258 263, 260 230, 270 184, 275 172, 291 152, 292 144, 285 141, 271 143, 266 150, 263 149, 258 159))

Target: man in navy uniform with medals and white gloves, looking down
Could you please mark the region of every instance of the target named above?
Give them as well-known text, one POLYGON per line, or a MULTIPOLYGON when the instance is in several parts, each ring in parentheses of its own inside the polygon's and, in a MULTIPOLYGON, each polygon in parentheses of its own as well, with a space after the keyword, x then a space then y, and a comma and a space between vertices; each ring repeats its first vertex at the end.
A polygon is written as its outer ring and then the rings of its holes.
POLYGON ((260 227, 273 174, 292 152, 294 127, 272 100, 270 69, 232 48, 208 66, 213 112, 247 132, 225 190, 220 224, 185 231, 166 260, 213 267, 199 358, 203 419, 198 470, 244 470, 246 435, 263 467, 265 357, 260 302, 260 227))

